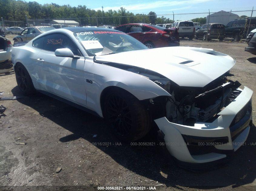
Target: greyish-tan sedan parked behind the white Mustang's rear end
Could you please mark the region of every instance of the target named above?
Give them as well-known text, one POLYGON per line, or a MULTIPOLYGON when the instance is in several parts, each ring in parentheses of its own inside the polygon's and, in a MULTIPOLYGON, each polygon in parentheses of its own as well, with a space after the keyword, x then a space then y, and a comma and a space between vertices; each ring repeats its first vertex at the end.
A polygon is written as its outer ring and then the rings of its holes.
POLYGON ((29 41, 46 31, 53 30, 53 27, 28 27, 13 38, 14 43, 29 41))

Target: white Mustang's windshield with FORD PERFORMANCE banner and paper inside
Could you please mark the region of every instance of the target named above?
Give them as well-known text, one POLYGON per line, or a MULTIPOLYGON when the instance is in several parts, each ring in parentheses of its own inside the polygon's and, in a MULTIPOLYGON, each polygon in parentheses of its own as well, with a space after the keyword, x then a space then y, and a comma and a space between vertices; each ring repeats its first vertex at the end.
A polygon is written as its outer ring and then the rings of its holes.
POLYGON ((117 31, 84 31, 74 35, 84 46, 88 56, 147 49, 147 46, 135 38, 117 31))

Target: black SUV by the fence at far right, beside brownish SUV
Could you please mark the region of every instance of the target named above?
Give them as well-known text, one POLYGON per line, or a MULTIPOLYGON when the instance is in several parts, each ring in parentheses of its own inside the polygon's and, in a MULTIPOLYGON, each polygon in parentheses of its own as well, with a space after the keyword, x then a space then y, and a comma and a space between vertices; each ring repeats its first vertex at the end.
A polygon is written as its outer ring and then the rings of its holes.
POLYGON ((225 37, 234 38, 234 41, 245 39, 249 28, 249 32, 256 28, 256 18, 240 18, 230 21, 225 28, 225 37), (251 22, 250 22, 251 20, 251 22))

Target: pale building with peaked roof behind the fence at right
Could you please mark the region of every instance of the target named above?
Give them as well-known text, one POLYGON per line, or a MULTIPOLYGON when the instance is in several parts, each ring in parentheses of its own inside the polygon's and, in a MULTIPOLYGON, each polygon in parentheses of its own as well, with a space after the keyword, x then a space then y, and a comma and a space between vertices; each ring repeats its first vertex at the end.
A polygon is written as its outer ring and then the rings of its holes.
MULTIPOLYGON (((228 24, 229 21, 233 21, 239 18, 237 14, 226 12, 226 11, 219 11, 217 13, 210 14, 209 23, 221 23, 221 24, 228 24)), ((209 15, 206 17, 206 23, 208 23, 209 15)))

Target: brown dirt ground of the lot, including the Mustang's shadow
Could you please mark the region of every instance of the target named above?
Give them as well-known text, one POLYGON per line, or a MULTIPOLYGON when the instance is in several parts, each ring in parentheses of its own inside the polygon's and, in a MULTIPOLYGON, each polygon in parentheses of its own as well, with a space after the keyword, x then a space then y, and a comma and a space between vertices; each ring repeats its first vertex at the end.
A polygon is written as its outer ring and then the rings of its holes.
MULTIPOLYGON (((237 62, 231 69, 234 74, 231 79, 255 92, 256 57, 244 51, 246 43, 182 40, 181 46, 210 48, 230 55, 237 62)), ((21 95, 14 72, 0 75, 0 91, 5 92, 2 97, 21 95)), ((255 126, 246 145, 236 151, 227 166, 193 173, 167 160, 159 146, 120 143, 103 119, 43 94, 0 100, 0 104, 7 108, 0 117, 0 186, 7 187, 0 190, 97 190, 98 186, 123 186, 123 189, 156 186, 156 190, 256 189, 255 126), (62 170, 56 173, 58 167, 62 170)), ((253 121, 255 107, 254 93, 253 121)), ((156 142, 156 139, 148 135, 139 142, 142 141, 156 142)))

